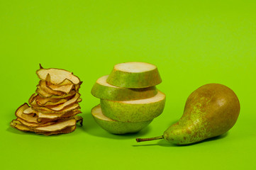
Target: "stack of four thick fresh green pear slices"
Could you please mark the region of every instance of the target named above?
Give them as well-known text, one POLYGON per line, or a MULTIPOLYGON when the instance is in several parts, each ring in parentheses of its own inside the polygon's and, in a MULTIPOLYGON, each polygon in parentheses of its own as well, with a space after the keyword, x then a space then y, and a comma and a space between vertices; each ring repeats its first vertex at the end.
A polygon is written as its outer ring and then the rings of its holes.
POLYGON ((165 94, 156 89, 162 79, 153 64, 116 64, 111 74, 100 77, 91 94, 101 103, 91 114, 101 128, 113 134, 138 132, 165 108, 165 94))

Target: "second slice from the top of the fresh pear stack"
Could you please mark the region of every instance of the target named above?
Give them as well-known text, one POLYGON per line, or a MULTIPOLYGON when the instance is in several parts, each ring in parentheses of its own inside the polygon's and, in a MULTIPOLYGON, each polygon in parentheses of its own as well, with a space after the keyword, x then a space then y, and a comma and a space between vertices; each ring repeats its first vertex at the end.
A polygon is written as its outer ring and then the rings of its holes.
POLYGON ((91 89, 91 94, 96 98, 111 101, 130 101, 142 98, 150 98, 157 94, 155 86, 145 89, 127 89, 123 87, 112 86, 106 82, 108 75, 97 79, 91 89))

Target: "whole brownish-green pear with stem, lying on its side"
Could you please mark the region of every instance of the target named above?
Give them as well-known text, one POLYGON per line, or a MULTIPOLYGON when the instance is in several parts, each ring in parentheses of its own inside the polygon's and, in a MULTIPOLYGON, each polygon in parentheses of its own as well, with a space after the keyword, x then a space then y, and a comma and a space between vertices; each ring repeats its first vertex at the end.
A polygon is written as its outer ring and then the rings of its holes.
POLYGON ((188 145, 228 132, 239 113, 240 103, 231 89, 222 84, 206 84, 189 95, 182 118, 162 136, 136 141, 165 139, 176 145, 188 145))

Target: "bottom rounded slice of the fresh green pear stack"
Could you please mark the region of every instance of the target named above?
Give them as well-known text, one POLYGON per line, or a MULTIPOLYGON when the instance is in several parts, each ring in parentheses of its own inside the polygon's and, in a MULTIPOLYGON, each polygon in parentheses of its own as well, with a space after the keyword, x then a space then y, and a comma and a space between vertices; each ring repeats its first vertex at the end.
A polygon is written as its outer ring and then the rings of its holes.
POLYGON ((126 134, 138 132, 149 125, 152 120, 137 123, 119 122, 106 117, 101 111, 101 105, 91 109, 91 115, 101 128, 113 134, 126 134))

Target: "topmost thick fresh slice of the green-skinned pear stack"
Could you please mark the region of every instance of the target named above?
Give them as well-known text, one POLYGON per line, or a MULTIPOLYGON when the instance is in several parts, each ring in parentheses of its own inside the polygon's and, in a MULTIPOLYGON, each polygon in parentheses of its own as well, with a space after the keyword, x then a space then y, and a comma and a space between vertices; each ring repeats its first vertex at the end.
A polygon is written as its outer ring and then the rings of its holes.
POLYGON ((140 89, 162 82, 157 67, 145 62, 125 62, 116 64, 106 79, 113 86, 140 89))

